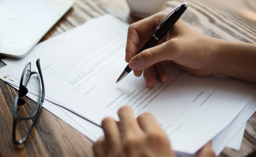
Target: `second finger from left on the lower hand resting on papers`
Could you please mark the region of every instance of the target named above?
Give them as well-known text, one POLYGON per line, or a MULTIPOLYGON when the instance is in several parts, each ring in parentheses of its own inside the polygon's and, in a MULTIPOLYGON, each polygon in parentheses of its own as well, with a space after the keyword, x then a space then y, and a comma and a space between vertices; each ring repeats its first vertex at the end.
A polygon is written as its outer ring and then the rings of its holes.
POLYGON ((109 155, 117 156, 120 151, 118 147, 121 143, 117 122, 113 118, 107 117, 102 120, 102 129, 104 130, 109 155))

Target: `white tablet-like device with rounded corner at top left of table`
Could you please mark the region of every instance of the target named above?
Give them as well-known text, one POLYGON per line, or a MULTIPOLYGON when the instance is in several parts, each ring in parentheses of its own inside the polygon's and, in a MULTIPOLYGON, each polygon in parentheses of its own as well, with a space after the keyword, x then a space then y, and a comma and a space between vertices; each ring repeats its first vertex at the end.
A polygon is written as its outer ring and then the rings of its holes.
POLYGON ((0 0, 0 55, 24 57, 74 0, 0 0))

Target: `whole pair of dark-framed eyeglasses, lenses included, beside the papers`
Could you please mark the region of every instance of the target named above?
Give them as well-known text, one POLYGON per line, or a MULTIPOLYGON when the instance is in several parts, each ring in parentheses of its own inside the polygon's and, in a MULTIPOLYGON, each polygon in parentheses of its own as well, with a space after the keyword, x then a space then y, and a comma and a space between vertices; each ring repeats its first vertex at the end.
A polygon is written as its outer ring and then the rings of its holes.
POLYGON ((35 126, 35 122, 45 99, 45 85, 40 67, 40 59, 37 59, 36 65, 38 71, 31 71, 31 62, 28 62, 21 75, 19 95, 15 98, 13 109, 13 142, 15 144, 23 144, 26 141, 28 135, 30 135, 33 129, 33 126, 35 126), (38 80, 37 105, 26 105, 29 109, 28 112, 26 112, 24 108, 26 102, 22 97, 28 93, 26 86, 33 74, 36 74, 38 80))

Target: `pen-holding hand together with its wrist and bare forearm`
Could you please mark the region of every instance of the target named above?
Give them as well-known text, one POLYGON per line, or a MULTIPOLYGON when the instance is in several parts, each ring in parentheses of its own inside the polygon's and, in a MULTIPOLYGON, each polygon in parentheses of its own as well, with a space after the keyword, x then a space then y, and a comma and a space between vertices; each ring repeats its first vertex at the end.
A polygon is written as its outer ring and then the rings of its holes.
POLYGON ((168 11, 161 11, 128 28, 126 62, 135 76, 143 77, 148 87, 155 83, 154 72, 162 82, 167 80, 167 64, 193 75, 226 75, 256 83, 256 45, 208 37, 178 20, 155 47, 136 55, 168 11))

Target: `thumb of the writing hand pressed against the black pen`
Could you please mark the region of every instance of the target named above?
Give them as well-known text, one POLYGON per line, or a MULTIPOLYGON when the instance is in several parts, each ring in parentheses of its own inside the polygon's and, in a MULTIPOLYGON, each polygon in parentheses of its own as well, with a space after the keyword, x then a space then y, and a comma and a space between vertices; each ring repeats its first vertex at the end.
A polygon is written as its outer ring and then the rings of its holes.
POLYGON ((172 60, 173 49, 170 40, 158 46, 145 49, 141 53, 132 57, 129 67, 133 70, 146 69, 163 60, 172 60))

